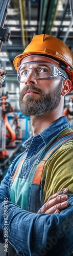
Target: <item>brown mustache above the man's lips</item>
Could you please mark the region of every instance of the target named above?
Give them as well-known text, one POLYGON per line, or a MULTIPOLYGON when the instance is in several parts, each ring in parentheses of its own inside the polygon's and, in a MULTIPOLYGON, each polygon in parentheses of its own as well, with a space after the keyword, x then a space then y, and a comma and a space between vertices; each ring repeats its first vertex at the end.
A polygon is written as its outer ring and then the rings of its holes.
POLYGON ((30 86, 26 86, 25 88, 23 88, 22 91, 21 91, 21 93, 20 93, 20 95, 21 95, 21 96, 24 96, 24 94, 25 94, 25 92, 26 92, 27 90, 34 90, 34 91, 40 93, 41 95, 44 95, 44 92, 43 92, 41 89, 39 89, 39 88, 33 86, 32 84, 31 84, 30 86))

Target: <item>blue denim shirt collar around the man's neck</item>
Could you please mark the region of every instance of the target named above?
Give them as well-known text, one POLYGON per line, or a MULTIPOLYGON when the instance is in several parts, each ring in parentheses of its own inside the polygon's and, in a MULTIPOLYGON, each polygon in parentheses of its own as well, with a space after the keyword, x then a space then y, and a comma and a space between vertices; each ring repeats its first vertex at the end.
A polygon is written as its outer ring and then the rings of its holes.
POLYGON ((22 143, 22 146, 28 149, 30 144, 35 143, 36 141, 37 144, 44 142, 44 145, 46 145, 50 140, 57 137, 63 130, 67 129, 68 127, 69 123, 67 117, 60 117, 38 135, 32 135, 29 137, 25 142, 22 143))

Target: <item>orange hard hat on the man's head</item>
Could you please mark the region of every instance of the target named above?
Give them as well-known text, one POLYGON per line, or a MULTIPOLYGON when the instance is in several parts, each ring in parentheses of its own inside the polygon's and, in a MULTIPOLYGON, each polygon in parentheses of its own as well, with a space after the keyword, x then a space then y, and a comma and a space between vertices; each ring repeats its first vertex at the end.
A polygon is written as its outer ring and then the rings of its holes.
MULTIPOLYGON (((73 83, 73 54, 63 41, 47 34, 33 36, 25 51, 15 57, 13 62, 15 69, 18 69, 22 58, 31 54, 48 55, 48 57, 52 56, 54 59, 64 62, 71 84, 73 83)), ((71 90, 73 90, 73 84, 71 90)))

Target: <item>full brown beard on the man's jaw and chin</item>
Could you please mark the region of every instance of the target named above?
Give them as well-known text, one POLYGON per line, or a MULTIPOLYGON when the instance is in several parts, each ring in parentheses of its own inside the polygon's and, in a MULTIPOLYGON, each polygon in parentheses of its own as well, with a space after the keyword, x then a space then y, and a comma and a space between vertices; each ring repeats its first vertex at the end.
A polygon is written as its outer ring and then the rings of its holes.
POLYGON ((48 113, 57 108, 61 100, 62 79, 58 84, 58 87, 53 90, 53 93, 45 94, 41 89, 34 87, 32 84, 22 89, 19 96, 19 107, 24 116, 41 116, 44 113, 48 113), (33 95, 27 96, 27 101, 23 100, 23 96, 26 90, 36 90, 41 94, 41 98, 34 100, 33 95))

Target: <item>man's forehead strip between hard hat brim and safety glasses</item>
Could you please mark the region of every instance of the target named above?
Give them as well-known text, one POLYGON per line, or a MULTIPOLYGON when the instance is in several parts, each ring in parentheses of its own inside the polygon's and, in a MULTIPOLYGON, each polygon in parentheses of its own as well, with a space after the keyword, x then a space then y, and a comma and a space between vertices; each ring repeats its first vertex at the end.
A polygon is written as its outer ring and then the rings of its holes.
POLYGON ((22 63, 25 63, 25 62, 29 62, 29 61, 47 61, 47 62, 55 62, 55 65, 56 63, 59 64, 58 61, 52 59, 52 58, 49 58, 49 57, 46 57, 46 56, 41 56, 41 55, 30 55, 30 56, 26 56, 24 58, 21 59, 21 64, 22 63))

